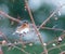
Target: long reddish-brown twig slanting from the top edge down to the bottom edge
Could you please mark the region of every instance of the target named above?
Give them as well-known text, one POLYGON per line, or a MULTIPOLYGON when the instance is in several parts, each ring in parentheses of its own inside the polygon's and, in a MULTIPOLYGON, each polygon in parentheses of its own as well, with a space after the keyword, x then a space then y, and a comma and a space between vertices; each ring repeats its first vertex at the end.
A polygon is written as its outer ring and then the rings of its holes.
POLYGON ((31 11, 30 11, 30 9, 29 9, 29 6, 28 6, 27 0, 25 0, 25 4, 26 4, 27 11, 28 11, 28 13, 29 13, 29 16, 30 16, 30 19, 31 19, 32 26, 34 26, 34 28, 35 28, 35 30, 36 30, 36 32, 37 32, 37 35, 38 35, 38 38, 39 38, 41 44, 42 44, 42 48, 43 48, 46 54, 48 54, 47 48, 43 46, 43 40, 42 40, 42 38, 41 38, 41 35, 40 35, 40 32, 39 32, 39 30, 37 29, 37 26, 36 26, 36 24, 35 24, 35 21, 34 21, 34 17, 32 17, 31 11))

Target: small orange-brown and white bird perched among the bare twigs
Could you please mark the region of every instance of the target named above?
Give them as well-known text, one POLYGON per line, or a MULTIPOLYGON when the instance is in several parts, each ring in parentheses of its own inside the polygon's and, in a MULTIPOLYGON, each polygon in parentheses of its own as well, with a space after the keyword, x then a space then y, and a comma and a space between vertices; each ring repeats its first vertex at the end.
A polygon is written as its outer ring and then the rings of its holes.
POLYGON ((29 24, 24 22, 20 27, 17 27, 15 33, 27 33, 29 32, 29 24))

